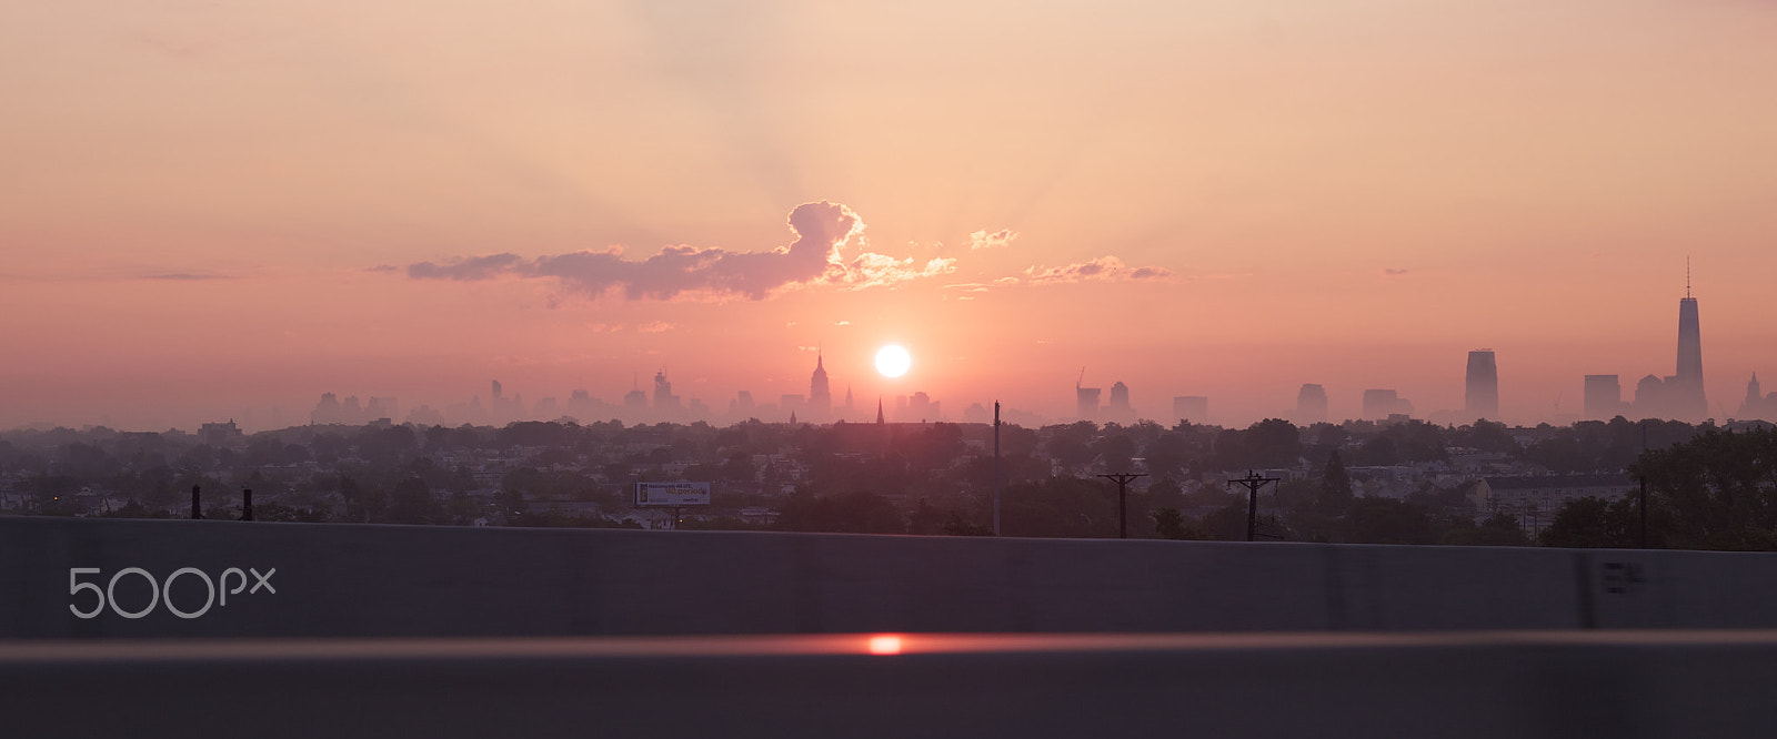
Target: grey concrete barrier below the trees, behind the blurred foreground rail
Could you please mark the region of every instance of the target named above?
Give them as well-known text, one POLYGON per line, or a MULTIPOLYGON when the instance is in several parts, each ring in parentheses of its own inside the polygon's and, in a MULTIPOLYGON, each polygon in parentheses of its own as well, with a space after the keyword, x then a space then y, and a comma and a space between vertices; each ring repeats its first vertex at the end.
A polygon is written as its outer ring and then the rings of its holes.
POLYGON ((1777 627, 1773 584, 1740 552, 0 517, 0 638, 1777 627))

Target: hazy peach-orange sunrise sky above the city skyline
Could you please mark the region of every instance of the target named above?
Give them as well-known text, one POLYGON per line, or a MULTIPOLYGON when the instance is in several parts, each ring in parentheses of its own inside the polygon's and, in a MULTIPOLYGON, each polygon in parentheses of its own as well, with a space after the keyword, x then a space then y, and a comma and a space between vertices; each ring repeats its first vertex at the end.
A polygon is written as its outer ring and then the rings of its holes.
POLYGON ((0 428, 661 368, 720 410, 817 345, 871 401, 1068 416, 1084 366, 1221 423, 1455 409, 1487 346, 1537 419, 1674 371, 1686 256, 1725 417, 1777 380, 1773 39, 1766 0, 5 2, 0 428))

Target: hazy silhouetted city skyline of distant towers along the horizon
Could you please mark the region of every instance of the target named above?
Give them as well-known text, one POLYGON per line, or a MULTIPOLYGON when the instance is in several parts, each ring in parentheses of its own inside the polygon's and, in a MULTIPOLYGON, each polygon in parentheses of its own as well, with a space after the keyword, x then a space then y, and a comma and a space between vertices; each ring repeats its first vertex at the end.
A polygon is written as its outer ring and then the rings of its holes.
MULTIPOLYGON (((1109 401, 1104 398, 1100 387, 1086 387, 1084 380, 1089 368, 1082 368, 1075 382, 1073 407, 1070 412, 1041 412, 1031 410, 1029 407, 1008 405, 1009 423, 1036 425, 1036 423, 1072 423, 1072 421, 1095 421, 1095 423, 1136 423, 1155 421, 1162 425, 1175 425, 1178 421, 1192 423, 1210 423, 1210 425, 1228 425, 1244 426, 1247 423, 1256 423, 1263 417, 1283 417, 1292 421, 1315 423, 1317 419, 1326 419, 1333 423, 1354 421, 1354 419, 1386 419, 1388 416, 1407 416, 1418 419, 1429 419, 1439 425, 1468 425, 1473 419, 1484 417, 1489 421, 1505 421, 1514 425, 1534 425, 1534 423, 1573 423, 1583 419, 1610 419, 1612 416, 1630 416, 1633 417, 1672 417, 1686 421, 1701 421, 1704 417, 1713 417, 1717 421, 1725 419, 1754 419, 1777 416, 1777 401, 1765 401, 1763 396, 1754 400, 1757 393, 1756 371, 1750 373, 1749 396, 1743 401, 1729 407, 1729 401, 1720 400, 1715 403, 1704 403, 1702 398, 1702 341, 1699 330, 1699 300, 1690 293, 1686 284, 1686 293, 1679 300, 1679 332, 1677 332, 1677 361, 1676 375, 1665 375, 1663 382, 1658 373, 1649 373, 1642 377, 1638 385, 1631 393, 1624 393, 1624 384, 1621 375, 1585 375, 1578 387, 1578 412, 1562 412, 1550 416, 1521 416, 1512 417, 1500 414, 1500 377, 1494 364, 1494 350, 1470 350, 1468 368, 1461 382, 1459 401, 1455 409, 1422 409, 1414 407, 1409 396, 1393 387, 1368 387, 1363 389, 1349 387, 1349 400, 1354 403, 1340 403, 1340 389, 1335 387, 1327 391, 1324 384, 1301 384, 1297 387, 1295 401, 1288 409, 1279 409, 1278 412, 1239 417, 1235 414, 1224 412, 1224 416, 1212 416, 1208 412, 1210 398, 1208 394, 1194 396, 1155 396, 1151 393, 1143 394, 1143 401, 1132 400, 1132 389, 1123 380, 1114 380, 1109 394, 1109 401), (1649 389, 1649 384, 1653 387, 1649 389), (1304 409, 1304 393, 1313 398, 1306 400, 1313 405, 1311 410, 1304 409), (1171 409, 1166 409, 1166 405, 1171 409), (1319 403, 1319 405, 1317 405, 1319 403), (1089 410, 1088 410, 1089 407, 1089 410), (1352 410, 1338 410, 1342 407, 1351 407, 1352 410), (1333 409, 1333 410, 1327 410, 1333 409), (1709 410, 1702 410, 1709 409, 1709 410), (1725 409, 1725 412, 1724 412, 1725 409), (1493 410, 1489 414, 1489 410, 1493 410), (1304 416, 1306 412, 1306 416, 1304 416)), ((798 346, 796 352, 803 354, 810 346, 798 346)), ((800 414, 803 423, 832 423, 832 421, 849 421, 849 423, 867 423, 867 416, 873 412, 862 405, 853 407, 851 403, 851 384, 846 384, 848 403, 842 407, 833 405, 830 394, 830 380, 825 366, 825 352, 819 346, 812 348, 816 355, 816 364, 809 380, 805 380, 807 394, 782 393, 775 394, 771 391, 762 393, 764 398, 778 398, 778 401, 759 401, 752 400, 752 389, 737 387, 730 391, 727 398, 704 396, 681 396, 672 391, 672 380, 665 370, 656 370, 652 377, 652 393, 645 393, 640 387, 641 373, 634 373, 633 387, 627 393, 606 400, 606 396, 592 393, 585 387, 574 387, 569 393, 549 393, 533 391, 533 403, 522 403, 522 391, 515 396, 503 396, 501 380, 490 380, 490 393, 487 403, 483 403, 480 394, 471 394, 467 398, 439 398, 439 400, 421 400, 410 405, 400 405, 396 394, 366 394, 364 401, 359 401, 357 394, 352 393, 334 393, 323 391, 320 394, 318 405, 311 410, 288 409, 288 407, 268 407, 263 416, 256 416, 254 409, 243 409, 242 414, 227 414, 231 421, 242 421, 243 428, 249 430, 272 430, 284 428, 291 425, 304 423, 370 423, 375 419, 389 419, 393 423, 421 423, 421 425, 460 425, 460 423, 508 423, 508 421, 549 421, 560 417, 574 417, 581 423, 610 421, 620 419, 626 423, 691 423, 691 421, 711 421, 711 423, 736 423, 745 419, 764 419, 764 421, 785 421, 793 414, 800 414), (565 400, 563 400, 565 396, 565 400), (522 409, 522 410, 519 410, 522 409)), ((871 370, 865 362, 860 373, 869 378, 871 370)), ((1141 373, 1134 373, 1141 375, 1141 373)), ((883 377, 874 377, 881 382, 883 377)), ((787 380, 789 385, 794 380, 787 380)), ((1374 384, 1372 384, 1374 385, 1374 384)), ((768 380, 762 387, 787 387, 784 380, 768 380)), ((965 417, 963 412, 952 412, 944 416, 938 412, 942 400, 935 393, 922 389, 908 389, 904 385, 890 385, 894 394, 881 394, 878 400, 885 401, 887 416, 890 421, 979 421, 977 417, 965 417), (908 410, 908 403, 915 401, 913 410, 908 410), (924 412, 924 414, 920 414, 924 412)), ((1560 394, 1557 394, 1558 401, 1560 394)), ((1734 394, 1722 394, 1718 398, 1736 398, 1734 394)), ((1224 398, 1223 401, 1233 400, 1231 405, 1240 405, 1240 398, 1224 398)), ((952 403, 952 409, 960 409, 965 403, 968 410, 981 410, 983 403, 992 403, 993 398, 961 398, 952 403)), ((1281 407, 1281 403, 1276 403, 1281 407)), ((1059 403, 1031 403, 1031 407, 1054 410, 1059 403)), ((197 423, 187 428, 195 430, 203 423, 213 423, 222 419, 220 416, 201 417, 197 423)), ((21 423, 14 426, 46 426, 46 425, 66 425, 66 423, 21 423)), ((80 423, 76 426, 105 425, 108 417, 101 417, 98 423, 80 423)), ((5 426, 5 428, 14 428, 5 426)), ((178 425, 169 425, 178 426, 178 425)), ((158 430, 158 426, 117 426, 124 430, 158 430)))

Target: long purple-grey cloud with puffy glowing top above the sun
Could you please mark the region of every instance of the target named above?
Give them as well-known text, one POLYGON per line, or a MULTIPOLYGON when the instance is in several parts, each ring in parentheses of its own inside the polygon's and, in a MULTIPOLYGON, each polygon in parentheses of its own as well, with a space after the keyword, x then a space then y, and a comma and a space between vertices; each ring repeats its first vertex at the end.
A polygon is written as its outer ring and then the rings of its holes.
POLYGON ((647 259, 624 259, 620 250, 579 250, 524 259, 517 254, 487 254, 450 263, 421 261, 407 266, 412 279, 483 281, 503 275, 554 279, 572 293, 597 298, 618 293, 629 300, 672 300, 681 295, 745 297, 762 300, 791 286, 839 286, 865 290, 954 272, 954 259, 915 265, 862 252, 849 261, 848 245, 865 247, 864 220, 837 203, 805 203, 789 213, 796 240, 764 252, 661 249, 647 259))

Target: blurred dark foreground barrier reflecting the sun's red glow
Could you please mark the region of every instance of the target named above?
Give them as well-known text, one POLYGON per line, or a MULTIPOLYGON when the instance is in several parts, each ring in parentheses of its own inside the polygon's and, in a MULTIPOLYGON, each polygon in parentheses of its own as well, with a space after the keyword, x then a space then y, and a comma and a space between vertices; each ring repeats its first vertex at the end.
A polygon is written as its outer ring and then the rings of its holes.
POLYGON ((1766 737, 1773 632, 0 641, 20 737, 1766 737))

